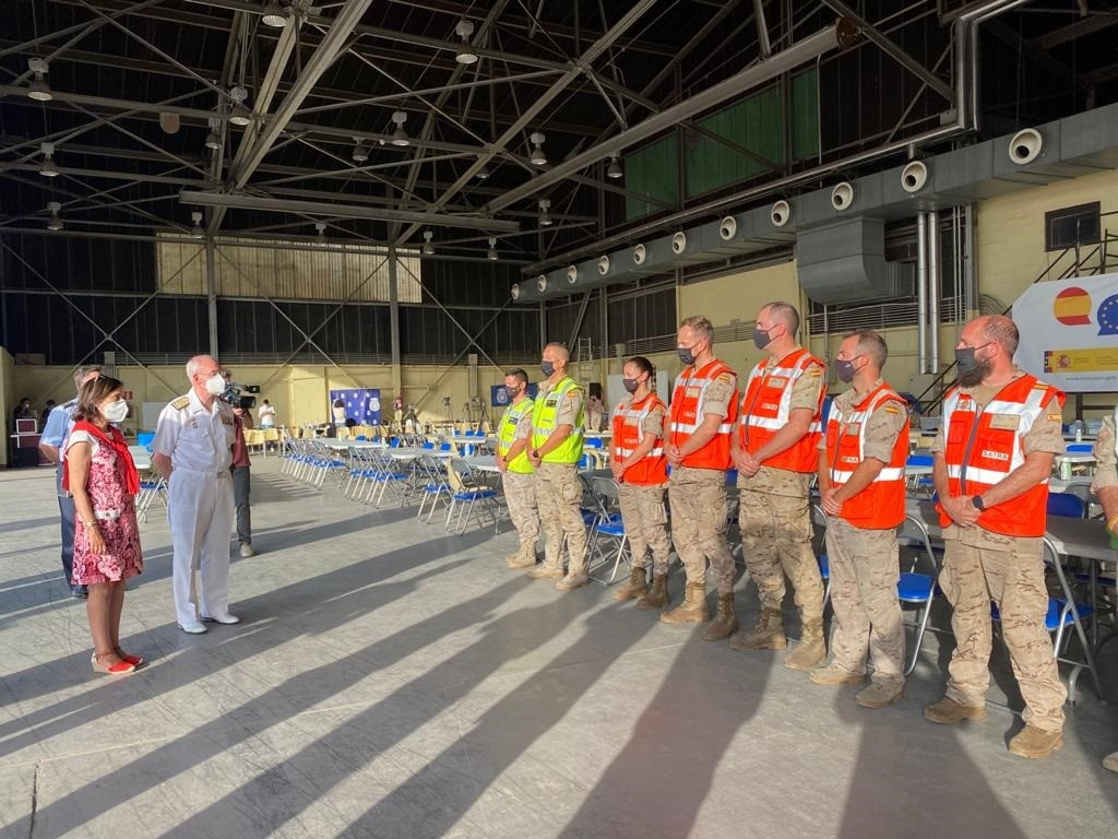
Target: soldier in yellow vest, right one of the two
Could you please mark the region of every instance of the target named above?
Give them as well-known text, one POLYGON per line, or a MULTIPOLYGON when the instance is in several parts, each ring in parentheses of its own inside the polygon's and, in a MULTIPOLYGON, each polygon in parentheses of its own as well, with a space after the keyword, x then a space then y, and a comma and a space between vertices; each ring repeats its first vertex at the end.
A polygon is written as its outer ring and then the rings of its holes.
POLYGON ((582 483, 578 462, 582 458, 586 424, 582 388, 567 375, 570 353, 561 343, 543 348, 540 383, 532 409, 532 437, 528 461, 536 469, 536 502, 540 525, 548 540, 543 564, 528 572, 532 578, 556 578, 556 588, 570 591, 586 585, 586 524, 579 503, 582 483), (563 575, 562 548, 567 539, 569 558, 563 575))

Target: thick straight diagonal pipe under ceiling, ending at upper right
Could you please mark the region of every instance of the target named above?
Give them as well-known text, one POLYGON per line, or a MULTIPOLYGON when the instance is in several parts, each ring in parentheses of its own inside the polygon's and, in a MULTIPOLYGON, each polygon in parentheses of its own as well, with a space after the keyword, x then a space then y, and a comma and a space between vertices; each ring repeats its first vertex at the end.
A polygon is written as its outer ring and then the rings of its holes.
POLYGON ((850 46, 856 35, 856 27, 846 18, 840 18, 826 29, 797 41, 787 49, 781 49, 779 53, 755 64, 752 67, 741 70, 724 82, 719 82, 691 98, 684 100, 657 114, 653 114, 627 131, 614 134, 580 154, 565 160, 543 175, 537 176, 527 183, 511 189, 500 198, 490 201, 489 208, 491 211, 496 211, 528 198, 556 181, 579 172, 591 163, 605 160, 614 152, 619 152, 626 147, 634 145, 727 100, 739 96, 746 91, 779 76, 781 73, 787 73, 802 64, 815 60, 840 46, 850 46))

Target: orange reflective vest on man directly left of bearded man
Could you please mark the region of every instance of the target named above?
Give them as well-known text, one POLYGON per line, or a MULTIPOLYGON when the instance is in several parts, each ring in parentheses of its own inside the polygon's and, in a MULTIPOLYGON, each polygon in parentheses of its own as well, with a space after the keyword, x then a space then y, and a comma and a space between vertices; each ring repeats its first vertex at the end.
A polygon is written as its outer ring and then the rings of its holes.
POLYGON ((853 409, 842 413, 839 402, 831 403, 827 417, 827 463, 831 483, 842 487, 865 460, 865 431, 873 412, 893 402, 904 412, 904 428, 897 436, 889 462, 869 487, 842 506, 841 518, 854 527, 885 530, 904 520, 904 461, 908 460, 908 405, 889 385, 871 390, 853 409))

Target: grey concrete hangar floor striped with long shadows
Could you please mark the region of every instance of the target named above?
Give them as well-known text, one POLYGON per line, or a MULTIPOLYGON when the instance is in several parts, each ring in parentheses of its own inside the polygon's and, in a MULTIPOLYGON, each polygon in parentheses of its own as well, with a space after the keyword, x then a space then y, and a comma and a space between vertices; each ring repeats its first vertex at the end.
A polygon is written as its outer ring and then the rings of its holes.
MULTIPOLYGON (((935 640, 906 699, 871 711, 784 653, 510 572, 509 532, 447 537, 293 484, 275 459, 253 472, 244 623, 176 628, 157 508, 122 632, 151 663, 115 679, 91 671, 60 579, 51 474, 0 473, 0 837, 1118 835, 1099 763, 1118 714, 1086 678, 1063 750, 1024 761, 1008 713, 923 719, 935 640)), ((745 582, 738 606, 751 621, 745 582)))

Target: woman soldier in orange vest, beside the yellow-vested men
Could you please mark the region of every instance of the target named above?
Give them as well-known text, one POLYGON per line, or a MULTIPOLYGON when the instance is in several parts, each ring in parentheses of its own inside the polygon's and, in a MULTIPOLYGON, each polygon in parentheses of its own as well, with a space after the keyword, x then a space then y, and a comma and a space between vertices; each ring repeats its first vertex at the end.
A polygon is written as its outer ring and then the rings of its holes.
POLYGON ((636 598, 637 609, 662 609, 667 604, 667 565, 672 547, 664 509, 667 462, 663 437, 667 408, 651 389, 655 379, 647 358, 631 358, 623 373, 628 396, 614 412, 609 465, 617 481, 622 520, 633 558, 629 582, 614 592, 614 598, 636 598), (652 548, 655 572, 651 592, 645 578, 648 548, 652 548))

